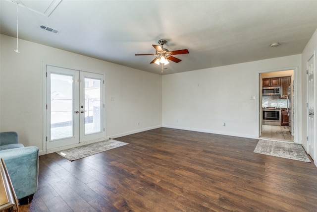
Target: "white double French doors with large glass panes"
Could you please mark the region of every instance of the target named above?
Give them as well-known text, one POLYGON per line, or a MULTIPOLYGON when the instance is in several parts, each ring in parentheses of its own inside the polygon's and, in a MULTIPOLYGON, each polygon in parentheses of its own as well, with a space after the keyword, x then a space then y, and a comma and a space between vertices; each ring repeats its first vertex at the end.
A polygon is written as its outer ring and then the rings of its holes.
POLYGON ((47 149, 105 138, 104 75, 46 66, 47 149))

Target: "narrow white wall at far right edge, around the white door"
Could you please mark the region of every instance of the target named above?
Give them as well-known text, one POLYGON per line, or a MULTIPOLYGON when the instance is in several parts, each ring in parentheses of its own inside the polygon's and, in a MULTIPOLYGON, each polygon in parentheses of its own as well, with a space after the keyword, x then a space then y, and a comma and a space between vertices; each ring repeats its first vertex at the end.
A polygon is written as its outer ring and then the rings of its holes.
MULTIPOLYGON (((317 62, 317 30, 315 31, 315 33, 313 34, 312 38, 310 39, 310 41, 307 43, 303 53, 302 53, 302 72, 301 72, 301 76, 302 76, 302 108, 303 110, 302 112, 302 131, 303 131, 303 135, 302 135, 302 141, 303 141, 303 145, 304 148, 306 149, 306 151, 308 150, 308 143, 307 143, 307 107, 306 107, 306 103, 307 103, 307 74, 306 74, 306 70, 307 70, 307 61, 311 58, 311 56, 314 54, 314 51, 316 52, 315 54, 315 61, 317 62)), ((315 64, 316 66, 316 64, 315 64)), ((314 74, 314 81, 315 81, 315 106, 314 106, 314 110, 315 110, 315 114, 316 114, 316 109, 317 109, 317 71, 316 71, 316 67, 315 67, 315 74, 314 74)), ((317 118, 315 116, 315 152, 314 155, 315 157, 313 158, 315 161, 315 164, 317 165, 317 118)))

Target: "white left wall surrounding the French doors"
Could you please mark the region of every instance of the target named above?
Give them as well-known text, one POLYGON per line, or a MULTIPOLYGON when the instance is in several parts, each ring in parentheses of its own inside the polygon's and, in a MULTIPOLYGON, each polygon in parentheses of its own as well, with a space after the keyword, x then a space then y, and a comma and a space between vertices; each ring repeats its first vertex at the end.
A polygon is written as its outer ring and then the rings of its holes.
POLYGON ((161 127, 161 75, 25 40, 17 54, 16 39, 0 36, 0 132, 16 131, 24 145, 45 150, 43 63, 106 73, 107 138, 161 127))

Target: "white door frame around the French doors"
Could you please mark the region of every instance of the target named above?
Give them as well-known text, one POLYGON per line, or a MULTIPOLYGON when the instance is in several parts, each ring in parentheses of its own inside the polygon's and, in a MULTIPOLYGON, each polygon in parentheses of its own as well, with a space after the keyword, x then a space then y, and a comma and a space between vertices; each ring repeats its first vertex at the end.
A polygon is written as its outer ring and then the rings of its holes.
POLYGON ((53 153, 56 151, 60 151, 60 150, 64 150, 67 148, 72 148, 72 147, 77 147, 77 146, 81 146, 81 145, 85 145, 85 144, 89 144, 89 143, 94 143, 94 142, 98 142, 98 141, 104 141, 106 139, 108 139, 108 137, 106 137, 106 73, 100 73, 100 72, 94 72, 94 71, 90 71, 90 70, 84 70, 84 69, 80 69, 80 68, 74 68, 74 67, 67 67, 67 66, 63 66, 63 65, 59 65, 59 64, 53 64, 50 62, 43 62, 42 63, 42 67, 43 67, 43 77, 42 77, 42 82, 43 82, 43 154, 48 154, 48 153, 53 153), (85 71, 85 72, 91 72, 91 73, 98 73, 98 74, 102 74, 104 76, 104 89, 102 92, 103 98, 104 98, 104 113, 102 113, 102 120, 103 120, 103 126, 102 128, 104 128, 104 138, 101 139, 95 139, 95 140, 91 140, 91 141, 84 141, 84 142, 79 142, 76 144, 72 144, 72 145, 67 145, 67 146, 63 146, 63 147, 57 147, 57 148, 53 148, 53 149, 47 149, 47 136, 48 136, 48 132, 47 132, 47 109, 46 109, 46 101, 47 101, 47 84, 46 84, 46 67, 47 66, 53 66, 53 67, 58 67, 58 68, 62 68, 62 69, 70 69, 70 70, 76 70, 76 71, 85 71))

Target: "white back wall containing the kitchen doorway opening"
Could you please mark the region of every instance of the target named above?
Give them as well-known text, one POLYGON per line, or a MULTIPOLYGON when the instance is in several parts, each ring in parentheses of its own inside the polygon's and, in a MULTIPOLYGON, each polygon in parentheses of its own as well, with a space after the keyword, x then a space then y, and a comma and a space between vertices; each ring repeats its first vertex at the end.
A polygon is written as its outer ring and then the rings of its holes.
POLYGON ((163 127, 258 138, 259 72, 290 67, 301 55, 164 75, 163 127))

